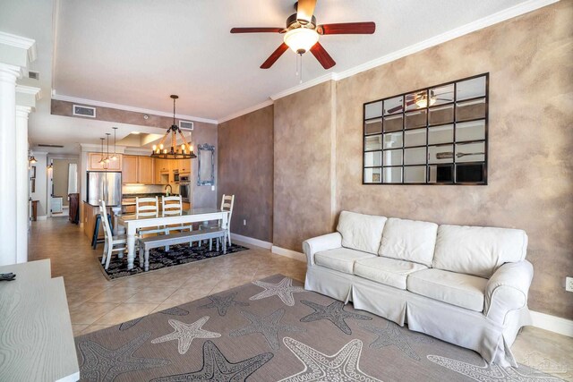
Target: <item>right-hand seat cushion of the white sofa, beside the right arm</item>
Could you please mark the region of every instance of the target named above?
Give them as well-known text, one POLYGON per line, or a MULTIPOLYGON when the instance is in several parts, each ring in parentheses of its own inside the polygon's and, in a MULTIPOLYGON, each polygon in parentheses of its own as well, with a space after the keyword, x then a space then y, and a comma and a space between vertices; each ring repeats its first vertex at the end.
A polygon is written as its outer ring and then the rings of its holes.
POLYGON ((407 290, 468 310, 483 311, 487 279, 441 269, 424 269, 408 276, 407 290))

